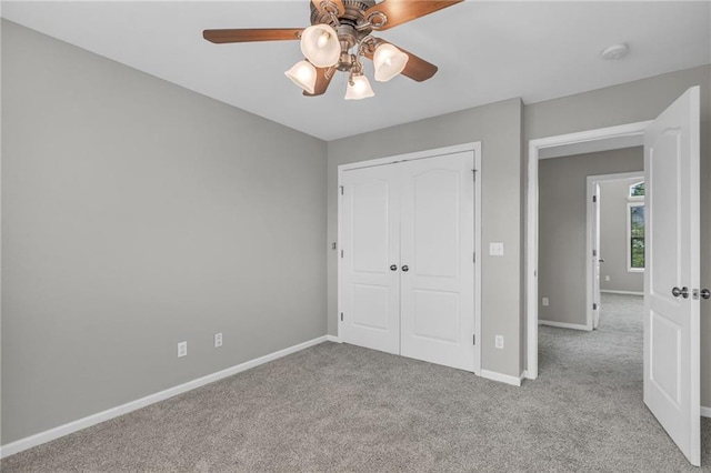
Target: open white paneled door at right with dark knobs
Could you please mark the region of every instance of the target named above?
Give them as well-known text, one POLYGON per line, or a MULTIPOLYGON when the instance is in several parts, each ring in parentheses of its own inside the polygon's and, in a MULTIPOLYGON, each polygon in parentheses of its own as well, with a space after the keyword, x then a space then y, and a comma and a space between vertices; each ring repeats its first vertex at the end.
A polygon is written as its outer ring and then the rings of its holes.
POLYGON ((700 459, 699 88, 644 133, 644 403, 689 461, 700 459))

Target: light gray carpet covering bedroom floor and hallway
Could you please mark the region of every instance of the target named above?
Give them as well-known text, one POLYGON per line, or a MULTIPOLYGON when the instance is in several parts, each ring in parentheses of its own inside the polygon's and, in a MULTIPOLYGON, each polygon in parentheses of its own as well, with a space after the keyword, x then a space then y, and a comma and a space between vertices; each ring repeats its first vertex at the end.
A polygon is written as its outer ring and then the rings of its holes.
MULTIPOLYGON (((642 403, 641 298, 541 328, 522 388, 323 343, 2 461, 3 472, 693 471, 642 403), (613 309, 617 308, 617 309, 613 309)), ((711 471, 702 420, 702 471, 711 471)))

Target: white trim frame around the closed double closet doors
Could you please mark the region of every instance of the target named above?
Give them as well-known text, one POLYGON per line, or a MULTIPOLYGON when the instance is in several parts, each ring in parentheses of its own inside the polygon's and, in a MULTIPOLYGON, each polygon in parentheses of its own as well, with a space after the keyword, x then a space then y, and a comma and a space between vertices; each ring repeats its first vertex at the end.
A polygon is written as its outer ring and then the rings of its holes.
MULTIPOLYGON (((481 141, 474 141, 471 143, 455 144, 445 148, 437 148, 433 150, 415 151, 412 153, 398 154, 388 158, 372 159, 368 161, 358 161, 350 164, 341 164, 338 167, 338 185, 341 189, 343 182, 343 171, 350 169, 371 168, 375 165, 394 164, 400 161, 412 161, 418 159, 435 158, 439 155, 453 154, 459 152, 473 151, 474 153, 474 170, 477 172, 477 181, 474 184, 474 252, 481 255, 481 141)), ((343 199, 339 192, 338 199, 338 241, 341 239, 341 214, 342 214, 343 199)), ((341 338, 341 259, 338 259, 338 340, 341 338)), ((477 359, 474 360, 474 374, 481 375, 481 256, 477 258, 474 264, 474 331, 477 332, 478 343, 474 345, 477 359)))

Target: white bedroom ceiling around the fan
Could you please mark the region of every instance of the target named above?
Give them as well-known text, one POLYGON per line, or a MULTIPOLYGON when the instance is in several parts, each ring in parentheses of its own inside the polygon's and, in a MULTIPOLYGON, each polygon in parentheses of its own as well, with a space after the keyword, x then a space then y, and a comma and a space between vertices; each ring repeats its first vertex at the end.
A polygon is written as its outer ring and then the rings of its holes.
MULTIPOLYGON (((307 27, 308 0, 3 1, 2 17, 323 140, 711 62, 709 1, 465 1, 379 34, 435 63, 434 78, 371 80, 374 98, 344 101, 344 73, 318 98, 284 77, 301 59, 297 41, 202 39, 203 29, 307 27), (629 44, 629 56, 602 60, 618 42, 629 44)), ((365 68, 372 78, 372 64, 365 68)))

